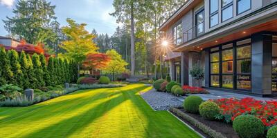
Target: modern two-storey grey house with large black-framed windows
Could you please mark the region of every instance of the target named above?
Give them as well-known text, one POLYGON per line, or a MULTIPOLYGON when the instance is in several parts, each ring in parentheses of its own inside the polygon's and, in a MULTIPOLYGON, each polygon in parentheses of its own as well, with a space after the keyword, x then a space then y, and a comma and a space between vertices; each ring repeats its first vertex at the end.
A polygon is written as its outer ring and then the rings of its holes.
POLYGON ((277 90, 277 0, 186 0, 159 28, 172 41, 170 75, 204 88, 271 95, 277 90))

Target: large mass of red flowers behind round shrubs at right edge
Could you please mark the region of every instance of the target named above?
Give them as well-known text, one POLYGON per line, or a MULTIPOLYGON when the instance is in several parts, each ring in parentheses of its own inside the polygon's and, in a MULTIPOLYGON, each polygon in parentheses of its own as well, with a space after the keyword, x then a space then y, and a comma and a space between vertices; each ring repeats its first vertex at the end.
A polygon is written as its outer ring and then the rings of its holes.
POLYGON ((216 99, 220 106, 220 115, 225 121, 233 121, 239 115, 254 115, 267 126, 277 125, 277 101, 259 101, 253 98, 244 99, 216 99))

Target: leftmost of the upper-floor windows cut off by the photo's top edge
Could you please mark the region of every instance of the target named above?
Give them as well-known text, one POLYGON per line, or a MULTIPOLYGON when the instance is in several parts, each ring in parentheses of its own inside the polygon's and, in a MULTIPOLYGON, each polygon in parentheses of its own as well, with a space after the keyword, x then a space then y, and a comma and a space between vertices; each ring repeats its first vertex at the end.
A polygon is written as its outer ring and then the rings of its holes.
POLYGON ((218 24, 218 0, 210 0, 210 28, 218 24))

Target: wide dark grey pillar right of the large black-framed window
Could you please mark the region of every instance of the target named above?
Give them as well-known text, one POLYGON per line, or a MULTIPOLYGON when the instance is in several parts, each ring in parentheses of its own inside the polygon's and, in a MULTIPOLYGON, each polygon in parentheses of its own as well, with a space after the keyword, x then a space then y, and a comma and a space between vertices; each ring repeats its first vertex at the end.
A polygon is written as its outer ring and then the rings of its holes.
POLYGON ((272 35, 253 34, 251 45, 252 93, 271 95, 272 35))

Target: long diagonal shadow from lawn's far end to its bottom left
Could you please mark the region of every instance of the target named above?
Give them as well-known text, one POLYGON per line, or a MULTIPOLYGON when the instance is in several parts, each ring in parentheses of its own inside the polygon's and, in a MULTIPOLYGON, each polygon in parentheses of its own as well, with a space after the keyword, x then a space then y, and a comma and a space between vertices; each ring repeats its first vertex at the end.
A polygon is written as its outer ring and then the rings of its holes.
MULTIPOLYGON (((83 128, 85 128, 86 126, 91 124, 91 122, 95 121, 102 115, 105 115, 105 113, 109 112, 109 110, 112 110, 113 108, 118 106, 120 103, 123 103, 124 101, 128 100, 125 97, 126 93, 129 93, 129 95, 135 95, 136 92, 143 90, 145 88, 147 88, 147 86, 139 86, 139 87, 123 89, 121 91, 111 93, 111 95, 113 95, 113 96, 116 96, 116 95, 118 95, 118 96, 111 98, 103 103, 100 103, 97 106, 90 108, 89 110, 87 110, 86 112, 83 112, 80 115, 75 115, 74 117, 70 117, 69 119, 65 119, 63 121, 58 121, 55 124, 51 124, 51 126, 47 126, 46 128, 39 129, 35 132, 32 132, 28 135, 21 136, 21 137, 41 137, 42 135, 44 135, 44 137, 53 136, 53 135, 55 135, 57 137, 58 136, 62 136, 62 137, 70 136, 74 132, 77 132, 78 130, 82 130, 83 128), (132 89, 132 91, 130 91, 131 89, 132 89), (122 95, 119 95, 119 94, 122 94, 122 95), (116 103, 114 103, 114 102, 116 102, 116 103), (104 109, 104 110, 100 110, 100 109, 104 109), (80 121, 80 119, 82 119, 82 117, 89 117, 89 119, 83 120, 82 122, 78 122, 78 121, 80 121), (69 124, 69 123, 71 123, 71 124, 69 124), (72 127, 71 128, 69 128, 69 127, 61 128, 61 127, 65 127, 66 125, 71 125, 72 127), (61 128, 61 130, 59 130, 57 128, 61 128), (54 130, 55 130, 55 133, 53 133, 54 130), (47 135, 47 132, 48 132, 48 135, 47 135)), ((111 97, 111 95, 109 95, 109 97, 111 97)))

